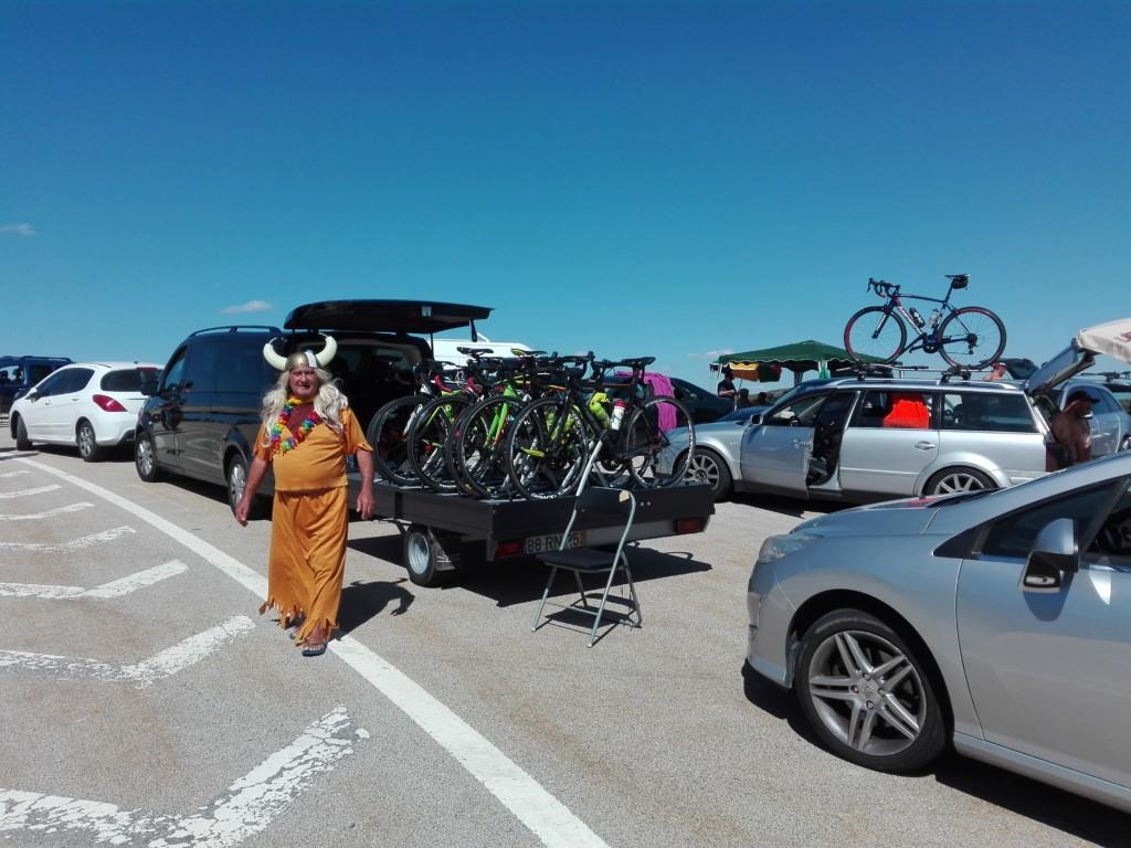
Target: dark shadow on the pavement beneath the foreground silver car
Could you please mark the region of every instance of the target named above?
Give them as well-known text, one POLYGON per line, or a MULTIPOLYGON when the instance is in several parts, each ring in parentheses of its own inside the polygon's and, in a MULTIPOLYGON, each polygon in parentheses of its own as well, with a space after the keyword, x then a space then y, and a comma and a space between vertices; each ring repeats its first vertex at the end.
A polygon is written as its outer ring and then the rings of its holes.
MULTIPOLYGON (((783 719, 798 736, 822 747, 792 692, 751 672, 746 666, 743 667, 742 677, 748 701, 775 718, 783 719)), ((952 752, 942 756, 932 770, 921 772, 920 778, 930 777, 932 772, 934 779, 943 786, 1079 839, 1105 848, 1131 843, 1131 820, 1126 814, 1054 786, 952 752)), ((861 773, 866 776, 867 771, 862 769, 861 773)), ((914 779, 914 776, 908 779, 914 779)))

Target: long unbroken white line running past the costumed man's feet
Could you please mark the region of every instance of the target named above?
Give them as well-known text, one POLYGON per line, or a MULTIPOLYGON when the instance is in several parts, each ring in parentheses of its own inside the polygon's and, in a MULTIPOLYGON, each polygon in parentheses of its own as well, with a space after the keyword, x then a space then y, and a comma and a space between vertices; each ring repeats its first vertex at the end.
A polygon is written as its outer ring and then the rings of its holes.
MULTIPOLYGON (((32 459, 16 461, 60 477, 85 488, 148 522, 176 539, 202 560, 250 590, 257 599, 267 597, 267 580, 239 560, 145 507, 107 488, 60 471, 32 459)), ((608 848, 558 798, 519 768, 475 728, 430 695, 382 657, 352 637, 330 642, 330 650, 349 664, 379 692, 399 707, 421 729, 434 738, 456 761, 483 784, 515 816, 550 848, 608 848)))

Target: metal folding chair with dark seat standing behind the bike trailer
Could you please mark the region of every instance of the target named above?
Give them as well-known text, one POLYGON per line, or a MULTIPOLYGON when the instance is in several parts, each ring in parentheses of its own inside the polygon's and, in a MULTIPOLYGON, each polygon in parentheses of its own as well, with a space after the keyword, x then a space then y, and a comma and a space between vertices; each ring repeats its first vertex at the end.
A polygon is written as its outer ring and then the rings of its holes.
POLYGON ((597 641, 597 630, 601 628, 601 620, 605 614, 605 605, 608 603, 608 592, 613 587, 613 578, 618 571, 624 573, 629 587, 629 597, 613 596, 613 599, 630 604, 631 609, 628 613, 620 614, 615 623, 628 624, 630 628, 639 628, 644 624, 640 603, 637 599, 636 585, 632 582, 632 570, 629 568, 629 559, 624 554, 624 542, 629 537, 629 530, 632 529, 632 519, 634 517, 636 497, 632 496, 631 492, 623 488, 592 486, 578 495, 577 501, 573 503, 573 512, 570 514, 569 523, 562 534, 561 546, 556 551, 547 551, 537 555, 541 562, 547 563, 551 568, 550 577, 546 580, 546 588, 542 592, 542 603, 538 605, 538 612, 534 616, 532 631, 542 626, 542 613, 546 608, 546 598, 550 597, 550 588, 553 586, 554 578, 558 577, 559 569, 573 572, 573 579, 577 581, 577 590, 581 596, 581 606, 578 606, 577 600, 572 604, 553 604, 552 606, 572 609, 594 617, 593 630, 589 632, 590 648, 597 641), (581 512, 601 512, 606 516, 624 517, 624 531, 621 534, 621 540, 616 545, 615 552, 598 551, 593 547, 566 547, 570 530, 573 529, 577 517, 581 512), (601 604, 594 609, 589 606, 588 597, 585 594, 581 574, 603 574, 606 572, 608 579, 605 581, 605 589, 601 594, 601 604))

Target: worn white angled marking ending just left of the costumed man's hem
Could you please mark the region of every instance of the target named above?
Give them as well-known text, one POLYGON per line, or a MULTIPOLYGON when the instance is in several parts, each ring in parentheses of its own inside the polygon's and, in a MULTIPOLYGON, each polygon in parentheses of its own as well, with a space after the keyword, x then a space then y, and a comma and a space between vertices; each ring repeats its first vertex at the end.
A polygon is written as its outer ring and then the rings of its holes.
POLYGON ((43 672, 59 677, 88 677, 105 683, 132 683, 146 689, 164 677, 171 677, 210 654, 215 654, 238 635, 254 630, 245 615, 236 615, 223 624, 189 637, 148 659, 130 665, 115 665, 86 657, 60 657, 54 654, 0 650, 0 668, 15 667, 43 672))

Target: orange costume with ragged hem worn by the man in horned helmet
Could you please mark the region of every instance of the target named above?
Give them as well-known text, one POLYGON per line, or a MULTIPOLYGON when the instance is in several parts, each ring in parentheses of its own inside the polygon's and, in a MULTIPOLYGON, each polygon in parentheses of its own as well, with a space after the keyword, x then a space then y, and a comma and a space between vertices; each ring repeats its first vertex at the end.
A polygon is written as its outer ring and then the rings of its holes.
POLYGON ((319 626, 327 635, 338 626, 349 519, 346 457, 359 450, 373 449, 348 407, 340 434, 322 422, 286 452, 273 451, 262 426, 256 438, 256 456, 275 471, 267 600, 259 613, 278 609, 282 626, 305 615, 296 642, 319 626))

